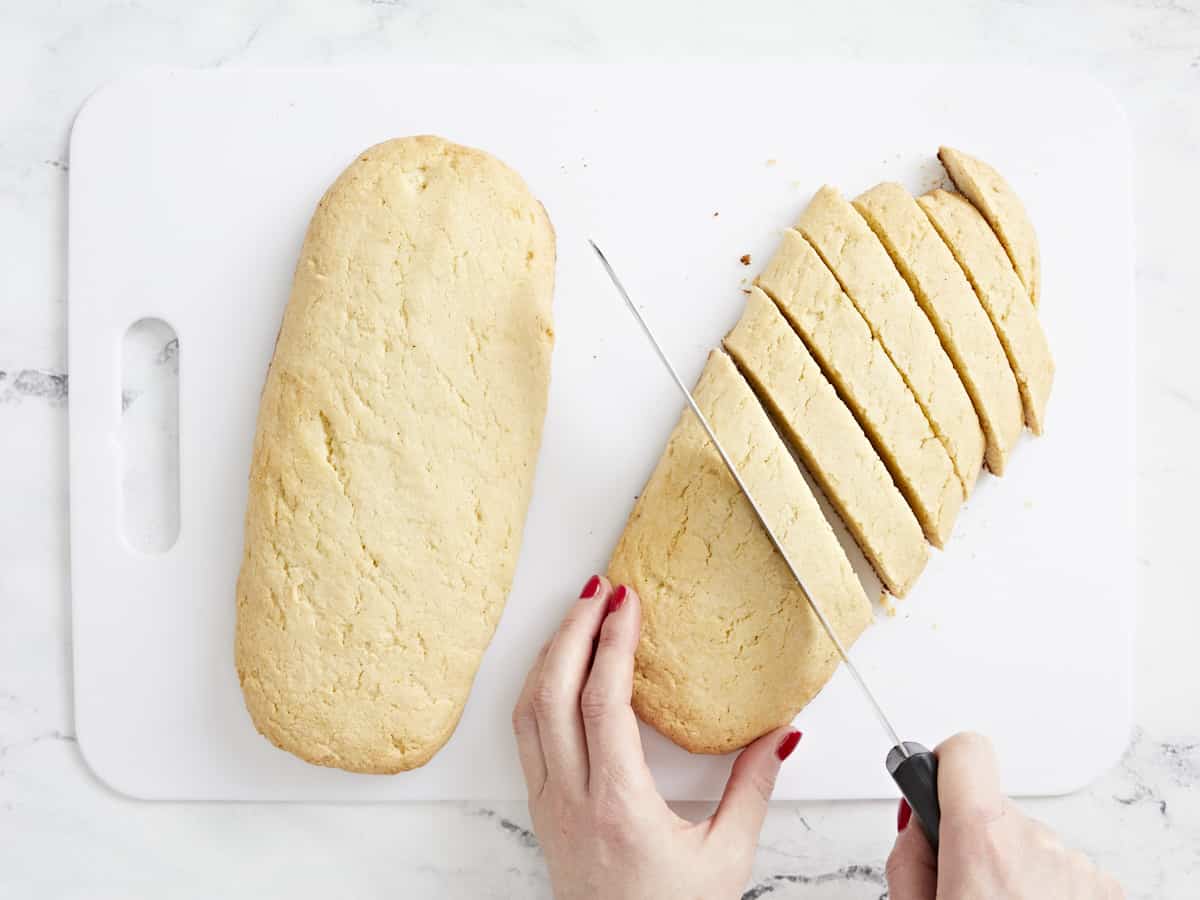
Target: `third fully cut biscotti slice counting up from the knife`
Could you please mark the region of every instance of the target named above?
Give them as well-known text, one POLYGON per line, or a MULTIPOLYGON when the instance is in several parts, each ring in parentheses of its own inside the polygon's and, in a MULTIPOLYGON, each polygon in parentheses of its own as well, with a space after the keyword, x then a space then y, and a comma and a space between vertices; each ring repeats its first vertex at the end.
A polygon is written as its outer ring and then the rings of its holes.
POLYGON ((817 191, 796 226, 866 319, 954 463, 964 496, 983 467, 984 437, 971 397, 937 332, 888 252, 833 187, 817 191))

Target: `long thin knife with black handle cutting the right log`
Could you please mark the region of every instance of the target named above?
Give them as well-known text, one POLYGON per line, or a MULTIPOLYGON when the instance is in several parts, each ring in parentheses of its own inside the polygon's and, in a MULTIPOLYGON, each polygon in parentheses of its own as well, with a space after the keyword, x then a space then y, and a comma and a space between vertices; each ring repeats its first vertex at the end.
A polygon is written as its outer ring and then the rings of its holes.
POLYGON ((816 617, 817 622, 821 623, 821 628, 824 629, 826 635, 833 643, 834 648, 838 650, 838 655, 841 658, 842 665, 850 672, 854 683, 858 684, 859 690, 866 698, 868 704, 875 712, 875 718, 878 720, 880 725, 883 726, 883 731, 888 739, 892 742, 892 749, 888 751, 884 764, 887 767, 888 774, 896 782, 900 792, 904 794, 905 799, 908 800, 908 805, 912 806, 912 811, 917 815, 920 821, 922 827, 925 830, 925 835, 929 838, 930 845, 934 848, 934 854, 937 854, 937 835, 938 826, 941 823, 941 808, 937 802, 937 758, 926 748, 916 742, 905 742, 900 739, 899 733, 892 725, 892 720, 888 719, 887 713, 883 712, 883 707, 876 700, 875 694, 866 684, 866 679, 863 678, 863 673, 859 672, 858 666, 850 659, 850 654, 846 650, 845 644, 838 637, 834 631, 833 625, 826 617, 824 612, 821 610, 821 605, 817 602, 816 598, 808 589, 804 583, 804 576, 800 575, 792 558, 788 556, 787 550, 780 542, 779 538, 775 535, 775 530, 770 527, 770 522, 767 521, 766 515, 763 515, 762 508, 755 499, 750 488, 746 487, 745 481, 742 480, 742 475, 738 472, 737 466, 733 464, 733 460, 725 451, 721 445, 720 438, 716 437, 716 432, 708 421, 708 416, 701 410, 700 404, 696 403, 696 398, 691 396, 691 391, 688 390, 688 385, 684 384, 683 379, 679 377, 679 372, 671 364, 670 358, 662 349, 662 344, 659 343, 654 332, 650 330, 649 324, 642 316, 641 311, 634 304, 632 298, 630 298, 629 292, 625 290, 625 286, 622 283, 617 272, 613 270, 612 264, 608 263, 608 258, 605 257, 604 251, 596 246, 596 242, 589 240, 588 244, 592 245, 592 250, 595 251, 596 258, 604 266, 605 272, 607 272, 610 281, 612 281, 613 287, 617 293, 620 294, 622 299, 625 301, 625 306, 634 314, 637 324, 641 326, 642 332, 646 335, 650 346, 654 348, 655 354, 662 362, 662 366, 671 374, 672 380, 676 386, 679 388, 679 392, 683 394, 684 400, 688 401, 688 406, 695 414, 696 419, 700 421, 704 432, 708 434, 708 439, 712 442, 713 448, 716 450, 718 455, 721 457, 721 462, 725 463, 725 468, 728 469, 730 475, 733 476, 733 481, 737 484, 742 494, 746 498, 750 508, 754 510, 755 516, 758 518, 758 523, 762 529, 767 533, 767 538, 770 539, 772 545, 775 547, 775 552, 782 557, 784 563, 787 565, 788 571, 794 578, 796 584, 800 588, 800 593, 808 601, 809 608, 812 610, 812 614, 816 617))

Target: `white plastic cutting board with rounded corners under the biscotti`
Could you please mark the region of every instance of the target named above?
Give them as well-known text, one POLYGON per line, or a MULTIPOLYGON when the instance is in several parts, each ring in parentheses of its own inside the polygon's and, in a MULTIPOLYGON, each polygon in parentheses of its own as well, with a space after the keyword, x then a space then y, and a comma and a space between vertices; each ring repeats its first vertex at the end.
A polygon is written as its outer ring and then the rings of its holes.
MULTIPOLYGON (((817 187, 926 190, 940 143, 991 161, 1026 202, 1058 378, 1046 436, 1022 439, 1002 481, 980 478, 946 552, 853 655, 905 738, 991 734, 1012 792, 1098 775, 1129 736, 1136 601, 1126 120, 1064 73, 782 65, 154 71, 88 102, 71 138, 71 563, 76 718, 97 775, 145 798, 520 796, 509 712, 524 668, 604 568, 680 409, 586 238, 694 379, 817 187), (251 726, 234 578, 308 216, 358 151, 420 132, 487 149, 545 203, 558 343, 516 582, 462 724, 418 772, 352 775, 251 726), (148 316, 181 348, 181 530, 161 554, 127 548, 119 509, 120 342, 148 316)), ((797 724, 776 797, 895 794, 845 672, 797 724)), ((646 738, 665 794, 719 794, 727 757, 646 738)))

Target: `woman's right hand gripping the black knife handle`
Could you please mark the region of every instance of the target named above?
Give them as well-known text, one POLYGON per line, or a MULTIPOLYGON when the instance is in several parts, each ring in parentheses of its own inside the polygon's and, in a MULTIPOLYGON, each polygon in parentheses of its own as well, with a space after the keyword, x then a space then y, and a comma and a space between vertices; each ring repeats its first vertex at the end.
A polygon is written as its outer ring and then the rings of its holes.
POLYGON ((1124 896, 1086 856, 1067 850, 1001 793, 986 738, 956 734, 937 748, 937 797, 936 863, 920 824, 910 823, 908 804, 900 802, 900 834, 887 869, 892 900, 1124 896))

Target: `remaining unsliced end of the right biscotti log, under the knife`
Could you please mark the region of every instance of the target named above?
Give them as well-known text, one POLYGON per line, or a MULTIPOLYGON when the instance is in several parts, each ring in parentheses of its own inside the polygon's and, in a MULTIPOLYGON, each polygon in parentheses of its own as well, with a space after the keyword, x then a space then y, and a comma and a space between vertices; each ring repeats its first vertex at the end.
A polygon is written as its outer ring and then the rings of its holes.
MULTIPOLYGON (((804 576, 851 644, 871 606, 796 461, 733 362, 714 350, 696 402, 804 576)), ((745 746, 808 703, 838 652, 685 410, 620 535, 608 577, 642 598, 634 709, 703 754, 745 746)))

